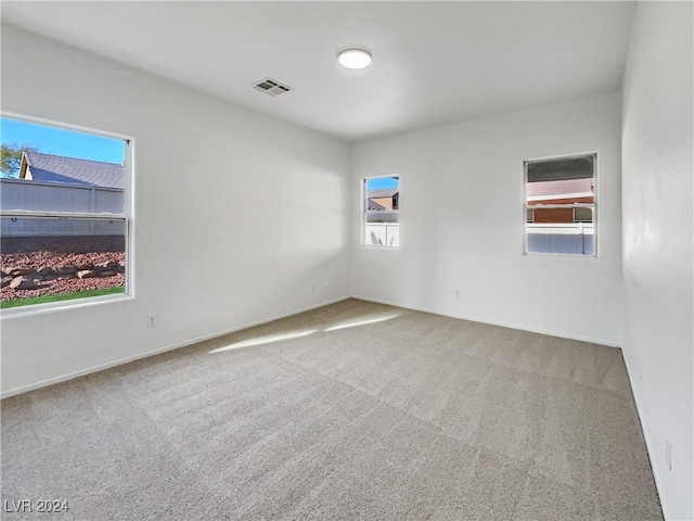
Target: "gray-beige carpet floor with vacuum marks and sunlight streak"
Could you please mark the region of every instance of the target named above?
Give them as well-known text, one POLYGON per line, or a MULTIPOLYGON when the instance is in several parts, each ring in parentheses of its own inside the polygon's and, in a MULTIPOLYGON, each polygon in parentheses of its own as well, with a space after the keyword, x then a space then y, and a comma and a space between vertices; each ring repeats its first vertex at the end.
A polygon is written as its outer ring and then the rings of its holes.
MULTIPOLYGON (((79 520, 661 520, 620 350, 344 301, 2 402, 79 520)), ((3 509, 7 509, 4 504, 3 509)))

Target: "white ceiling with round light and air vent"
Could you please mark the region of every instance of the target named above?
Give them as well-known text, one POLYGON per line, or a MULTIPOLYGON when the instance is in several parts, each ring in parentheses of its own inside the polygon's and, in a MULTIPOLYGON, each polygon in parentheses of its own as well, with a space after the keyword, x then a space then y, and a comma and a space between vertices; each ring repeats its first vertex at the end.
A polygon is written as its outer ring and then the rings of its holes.
POLYGON ((350 141, 620 88, 633 2, 9 2, 3 22, 350 141), (365 46, 364 71, 337 64, 365 46), (252 88, 270 76, 294 88, 252 88))

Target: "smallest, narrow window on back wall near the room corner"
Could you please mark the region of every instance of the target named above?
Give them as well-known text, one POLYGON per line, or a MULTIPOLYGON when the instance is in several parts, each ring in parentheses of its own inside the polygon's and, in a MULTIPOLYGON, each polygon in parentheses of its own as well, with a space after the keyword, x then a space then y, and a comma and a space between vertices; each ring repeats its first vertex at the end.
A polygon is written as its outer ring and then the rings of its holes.
POLYGON ((398 176, 363 179, 363 244, 398 247, 400 245, 400 178, 398 176))

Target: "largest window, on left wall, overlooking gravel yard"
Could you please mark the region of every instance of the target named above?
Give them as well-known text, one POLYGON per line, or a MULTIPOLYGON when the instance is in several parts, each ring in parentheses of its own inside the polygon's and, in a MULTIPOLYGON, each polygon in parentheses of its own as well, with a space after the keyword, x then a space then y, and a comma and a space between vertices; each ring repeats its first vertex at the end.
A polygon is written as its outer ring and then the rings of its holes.
POLYGON ((0 124, 2 308, 128 293, 130 140, 0 124))

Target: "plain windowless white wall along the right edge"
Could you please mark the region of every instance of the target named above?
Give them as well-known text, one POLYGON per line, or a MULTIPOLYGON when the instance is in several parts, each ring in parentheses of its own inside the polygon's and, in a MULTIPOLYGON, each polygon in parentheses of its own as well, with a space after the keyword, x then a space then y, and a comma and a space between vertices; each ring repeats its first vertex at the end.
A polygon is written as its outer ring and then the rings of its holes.
POLYGON ((639 4, 624 86, 625 357, 672 520, 694 519, 692 15, 639 4))

